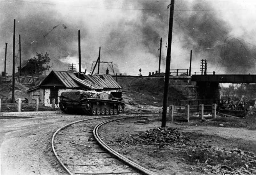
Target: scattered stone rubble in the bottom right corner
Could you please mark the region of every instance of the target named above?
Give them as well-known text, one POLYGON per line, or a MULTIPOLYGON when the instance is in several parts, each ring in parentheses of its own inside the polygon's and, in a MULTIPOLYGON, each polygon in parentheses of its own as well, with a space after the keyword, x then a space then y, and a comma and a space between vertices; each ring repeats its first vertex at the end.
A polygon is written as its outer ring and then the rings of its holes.
POLYGON ((205 174, 256 174, 256 156, 253 152, 213 148, 204 144, 189 146, 185 152, 197 165, 196 169, 205 174), (202 154, 204 156, 200 157, 202 154))

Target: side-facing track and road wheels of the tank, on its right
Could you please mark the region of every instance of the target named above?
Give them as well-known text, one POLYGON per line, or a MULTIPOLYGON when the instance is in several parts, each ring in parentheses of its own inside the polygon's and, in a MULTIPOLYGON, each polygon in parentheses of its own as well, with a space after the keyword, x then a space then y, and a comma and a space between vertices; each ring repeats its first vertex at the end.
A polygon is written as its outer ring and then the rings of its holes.
POLYGON ((82 109, 87 115, 118 115, 124 112, 124 103, 102 99, 87 99, 82 102, 82 109))

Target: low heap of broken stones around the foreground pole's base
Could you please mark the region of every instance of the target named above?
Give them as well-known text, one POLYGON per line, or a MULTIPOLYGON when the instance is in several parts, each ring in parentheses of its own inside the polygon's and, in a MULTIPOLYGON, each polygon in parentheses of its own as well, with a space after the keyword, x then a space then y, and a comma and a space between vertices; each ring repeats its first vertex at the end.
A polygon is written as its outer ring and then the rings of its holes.
POLYGON ((118 138, 117 142, 124 145, 156 145, 164 147, 176 142, 188 140, 175 128, 154 128, 144 133, 129 135, 128 137, 118 138))

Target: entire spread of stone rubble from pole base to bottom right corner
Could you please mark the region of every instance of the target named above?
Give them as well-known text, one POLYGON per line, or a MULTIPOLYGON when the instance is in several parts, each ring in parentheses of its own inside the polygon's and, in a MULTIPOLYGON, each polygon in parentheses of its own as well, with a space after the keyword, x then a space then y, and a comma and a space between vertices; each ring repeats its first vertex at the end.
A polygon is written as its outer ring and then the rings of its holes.
POLYGON ((176 128, 154 128, 116 141, 122 145, 153 145, 160 149, 171 147, 184 153, 184 161, 195 165, 196 171, 204 174, 256 174, 256 156, 253 152, 198 144, 189 141, 176 128))

